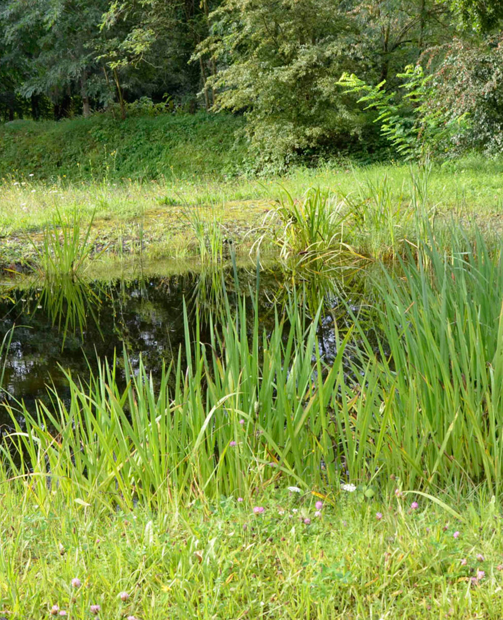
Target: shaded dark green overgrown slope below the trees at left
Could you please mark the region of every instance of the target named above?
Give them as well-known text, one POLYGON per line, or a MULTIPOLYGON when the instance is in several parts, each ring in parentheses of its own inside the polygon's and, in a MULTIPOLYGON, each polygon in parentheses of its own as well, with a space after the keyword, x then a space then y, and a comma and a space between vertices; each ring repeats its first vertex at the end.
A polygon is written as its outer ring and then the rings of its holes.
POLYGON ((235 174, 243 146, 235 146, 234 131, 241 126, 240 118, 203 112, 4 126, 0 176, 87 182, 235 174))

